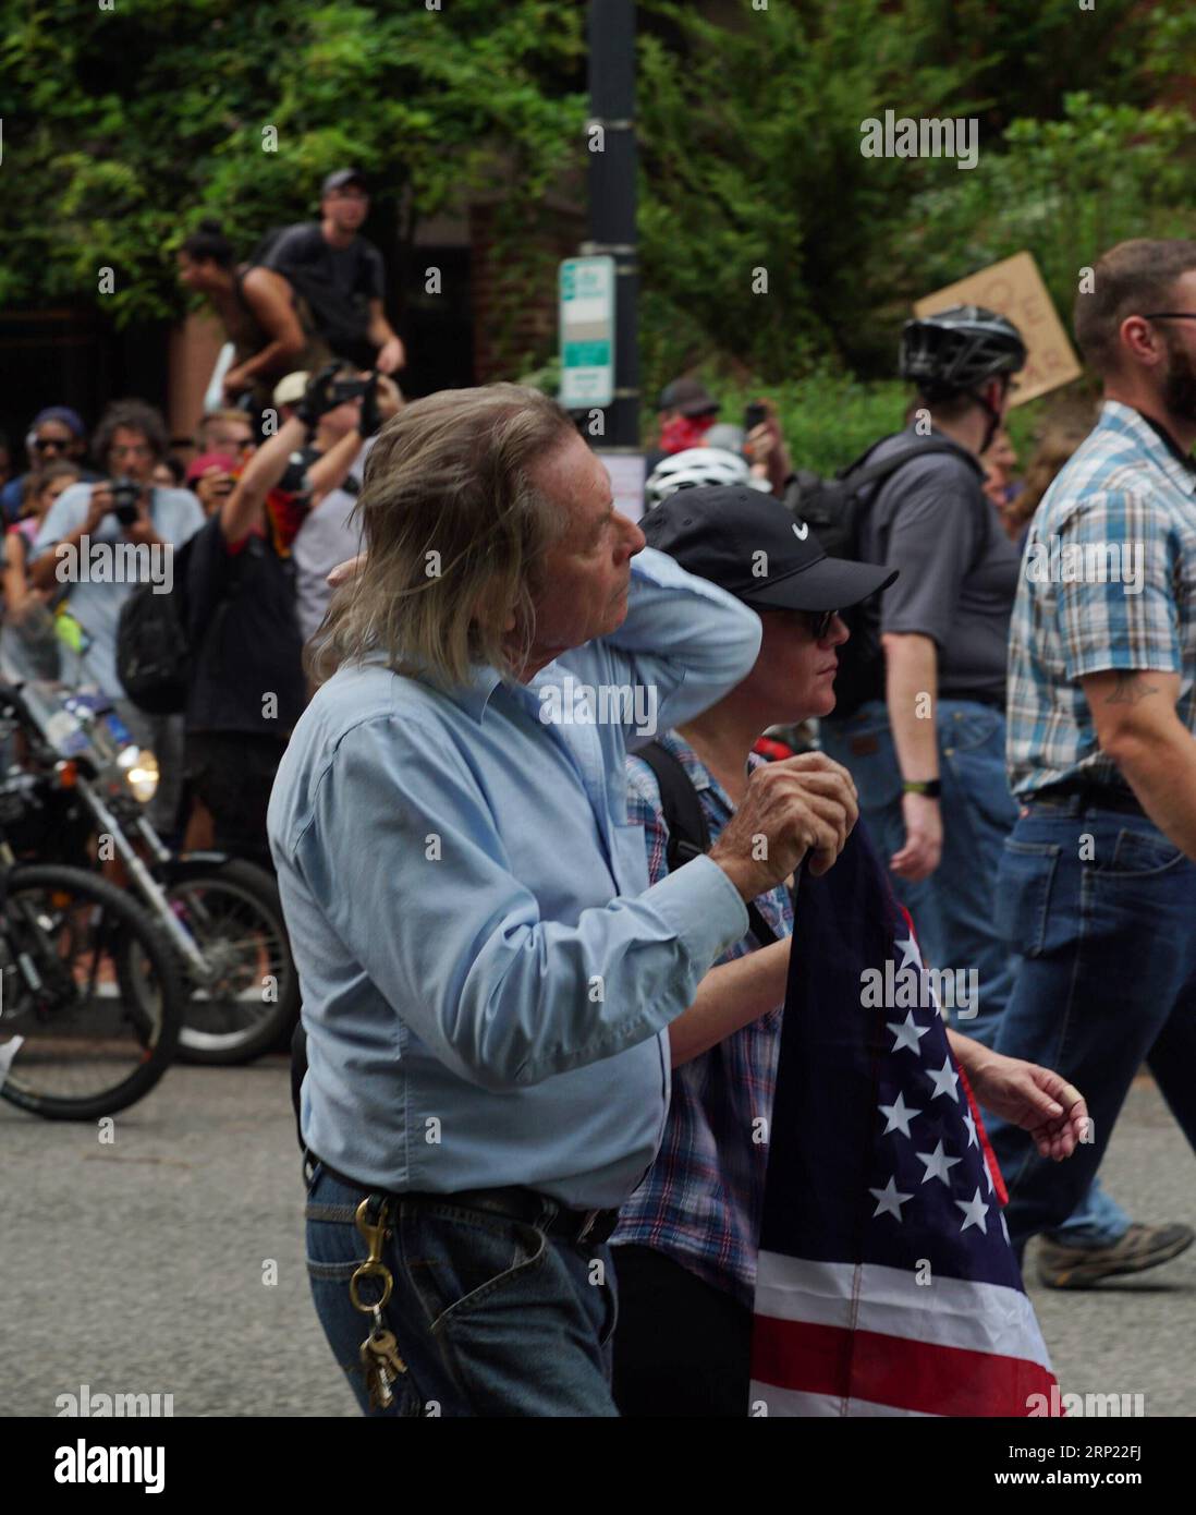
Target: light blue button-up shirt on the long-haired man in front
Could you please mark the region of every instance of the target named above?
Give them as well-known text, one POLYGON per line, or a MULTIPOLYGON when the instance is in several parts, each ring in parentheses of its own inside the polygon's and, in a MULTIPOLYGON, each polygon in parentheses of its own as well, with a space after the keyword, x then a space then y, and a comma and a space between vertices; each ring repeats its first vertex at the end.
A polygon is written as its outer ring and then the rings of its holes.
POLYGON ((636 726, 592 717, 639 686, 663 732, 758 648, 752 611, 645 548, 618 632, 527 685, 481 668, 448 697, 366 664, 319 689, 269 801, 315 1153, 386 1189, 627 1198, 663 1129, 665 1027, 748 915, 705 857, 648 886, 636 726))

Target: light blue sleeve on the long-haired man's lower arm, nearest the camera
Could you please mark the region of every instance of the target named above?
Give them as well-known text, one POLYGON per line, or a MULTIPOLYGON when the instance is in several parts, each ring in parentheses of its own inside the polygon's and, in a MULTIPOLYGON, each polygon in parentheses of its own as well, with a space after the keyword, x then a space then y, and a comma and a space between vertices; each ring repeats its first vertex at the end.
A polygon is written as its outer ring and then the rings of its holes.
POLYGON ((575 924, 542 920, 477 780, 442 733, 407 715, 341 738, 294 862, 401 1020, 494 1091, 657 1035, 748 926, 709 857, 575 924))

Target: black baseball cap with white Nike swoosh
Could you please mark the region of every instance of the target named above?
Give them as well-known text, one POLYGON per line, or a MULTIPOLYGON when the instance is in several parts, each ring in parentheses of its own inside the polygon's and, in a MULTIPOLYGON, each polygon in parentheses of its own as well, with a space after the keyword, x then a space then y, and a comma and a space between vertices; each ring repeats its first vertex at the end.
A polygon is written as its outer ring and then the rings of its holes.
POLYGON ((896 579, 880 564, 828 558, 805 521, 745 485, 678 489, 639 524, 649 547, 755 611, 845 611, 896 579))

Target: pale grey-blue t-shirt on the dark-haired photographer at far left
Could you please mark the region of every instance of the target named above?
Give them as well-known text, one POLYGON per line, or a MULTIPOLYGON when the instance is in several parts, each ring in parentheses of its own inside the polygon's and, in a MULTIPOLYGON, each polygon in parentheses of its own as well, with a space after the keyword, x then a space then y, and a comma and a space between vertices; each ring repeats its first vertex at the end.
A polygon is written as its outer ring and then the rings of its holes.
MULTIPOLYGON (((41 523, 41 530, 33 541, 33 556, 39 558, 64 536, 70 536, 71 532, 77 530, 86 521, 89 508, 89 483, 73 483, 68 489, 64 489, 41 523)), ((150 518, 154 532, 164 542, 174 548, 182 547, 203 526, 203 508, 189 489, 164 489, 154 485, 150 501, 150 518)), ((91 533, 89 547, 103 545, 109 548, 112 544, 124 541, 127 538, 117 518, 106 515, 91 533)), ((159 577, 156 582, 165 583, 167 570, 170 570, 173 579, 173 561, 164 558, 160 559, 160 568, 154 570, 145 553, 138 556, 144 561, 139 565, 150 570, 150 579, 157 573, 159 577)), ((138 565, 138 559, 132 562, 138 565)), ((73 565, 65 559, 62 559, 61 567, 64 573, 74 571, 73 565)), ((67 609, 89 638, 89 647, 86 647, 82 659, 65 647, 62 650, 62 682, 71 685, 71 688, 77 689, 85 685, 95 685, 114 698, 124 695, 124 689, 117 677, 117 623, 120 621, 121 606, 132 594, 133 582, 106 582, 114 574, 123 573, 124 562, 117 567, 112 553, 92 554, 88 551, 85 562, 80 562, 79 573, 79 577, 85 577, 88 582, 73 582, 68 579, 70 594, 67 597, 67 609), (106 559, 112 559, 111 565, 106 559)))

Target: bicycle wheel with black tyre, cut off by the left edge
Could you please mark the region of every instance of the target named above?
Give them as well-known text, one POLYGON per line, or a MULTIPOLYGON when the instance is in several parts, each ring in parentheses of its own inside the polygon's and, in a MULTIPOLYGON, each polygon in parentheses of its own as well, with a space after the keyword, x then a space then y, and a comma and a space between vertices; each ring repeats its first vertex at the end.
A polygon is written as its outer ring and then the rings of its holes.
POLYGON ((179 1042, 170 944, 135 900, 82 868, 14 868, 5 885, 0 1094, 47 1120, 126 1109, 179 1042))

